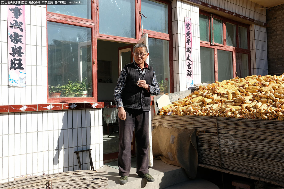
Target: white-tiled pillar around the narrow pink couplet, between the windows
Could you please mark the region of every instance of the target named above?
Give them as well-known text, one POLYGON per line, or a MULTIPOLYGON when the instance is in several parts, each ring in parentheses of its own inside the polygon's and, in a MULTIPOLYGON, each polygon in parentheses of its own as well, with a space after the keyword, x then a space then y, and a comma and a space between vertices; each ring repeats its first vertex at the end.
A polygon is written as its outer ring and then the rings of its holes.
POLYGON ((173 54, 174 54, 174 92, 187 90, 185 62, 185 28, 184 17, 191 18, 193 83, 200 83, 200 40, 199 40, 199 7, 187 1, 172 2, 173 54))

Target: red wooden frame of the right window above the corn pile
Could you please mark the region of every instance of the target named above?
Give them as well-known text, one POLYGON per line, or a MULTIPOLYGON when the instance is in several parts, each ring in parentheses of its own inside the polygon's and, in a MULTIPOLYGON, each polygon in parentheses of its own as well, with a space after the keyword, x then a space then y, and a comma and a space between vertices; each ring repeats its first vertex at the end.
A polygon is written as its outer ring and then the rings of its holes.
POLYGON ((230 20, 228 18, 224 18, 222 16, 217 16, 208 12, 204 12, 204 11, 199 11, 199 14, 203 14, 208 16, 208 21, 209 21, 209 26, 208 26, 208 31, 209 31, 209 42, 208 41, 200 41, 200 46, 201 47, 207 47, 207 48, 213 48, 214 49, 214 74, 215 74, 215 80, 218 81, 218 55, 217 55, 217 51, 218 50, 224 50, 224 51, 231 51, 232 52, 232 56, 233 56, 233 77, 235 78, 237 76, 237 71, 236 71, 236 53, 244 53, 244 54, 248 54, 248 59, 249 59, 249 75, 251 75, 251 65, 250 65, 250 36, 249 36, 249 25, 247 24, 243 24, 234 20, 230 20), (212 16, 211 16, 212 15, 212 16), (213 25, 213 18, 217 18, 219 20, 223 21, 223 44, 219 44, 219 43, 211 43, 211 38, 213 38, 214 36, 214 30, 212 32, 212 36, 211 36, 211 23, 213 25), (210 22, 211 20, 211 22, 210 22), (233 46, 228 46, 227 45, 227 40, 226 40, 226 22, 229 22, 230 24, 235 24, 236 25, 236 46, 237 47, 233 47, 233 46), (238 26, 243 26, 245 28, 247 28, 247 41, 248 41, 248 49, 242 49, 239 48, 239 37, 238 37, 238 26))

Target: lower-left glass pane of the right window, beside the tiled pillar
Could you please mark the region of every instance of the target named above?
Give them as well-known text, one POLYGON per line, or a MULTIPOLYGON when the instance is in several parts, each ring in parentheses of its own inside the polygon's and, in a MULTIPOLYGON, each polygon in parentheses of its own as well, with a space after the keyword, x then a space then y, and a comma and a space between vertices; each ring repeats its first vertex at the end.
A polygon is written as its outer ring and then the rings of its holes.
POLYGON ((213 83, 215 80, 214 74, 214 49, 200 47, 201 54, 201 82, 213 83))

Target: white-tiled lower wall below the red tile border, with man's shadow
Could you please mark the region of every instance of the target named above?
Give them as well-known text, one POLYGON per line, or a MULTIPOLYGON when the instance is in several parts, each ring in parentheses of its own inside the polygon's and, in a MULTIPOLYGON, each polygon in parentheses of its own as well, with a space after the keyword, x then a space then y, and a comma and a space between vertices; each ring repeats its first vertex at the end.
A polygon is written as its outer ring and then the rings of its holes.
MULTIPOLYGON (((82 149, 92 148, 95 169, 102 167, 99 117, 102 109, 0 114, 0 182, 78 170, 74 151, 82 149)), ((90 169, 87 152, 80 153, 80 158, 84 169, 90 169)))

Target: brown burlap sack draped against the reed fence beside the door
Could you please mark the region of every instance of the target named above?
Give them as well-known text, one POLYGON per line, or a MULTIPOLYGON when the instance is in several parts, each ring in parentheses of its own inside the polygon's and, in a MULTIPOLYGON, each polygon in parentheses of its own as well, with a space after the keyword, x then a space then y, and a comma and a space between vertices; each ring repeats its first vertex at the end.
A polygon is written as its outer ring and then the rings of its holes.
POLYGON ((163 162, 185 169, 189 178, 195 178, 198 166, 195 129, 165 128, 152 131, 153 156, 163 162))

